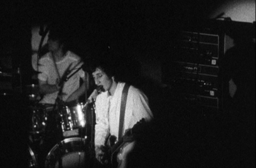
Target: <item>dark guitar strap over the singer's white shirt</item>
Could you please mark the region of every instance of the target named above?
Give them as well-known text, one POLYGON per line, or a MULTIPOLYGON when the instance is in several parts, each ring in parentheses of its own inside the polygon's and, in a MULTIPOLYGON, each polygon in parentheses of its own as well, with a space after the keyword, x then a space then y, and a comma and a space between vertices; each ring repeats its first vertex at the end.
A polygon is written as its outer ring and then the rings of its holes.
POLYGON ((120 119, 119 119, 119 131, 118 131, 118 140, 121 139, 123 129, 124 129, 124 114, 125 108, 127 106, 127 95, 128 95, 129 85, 125 83, 123 92, 121 95, 121 107, 120 107, 120 119))

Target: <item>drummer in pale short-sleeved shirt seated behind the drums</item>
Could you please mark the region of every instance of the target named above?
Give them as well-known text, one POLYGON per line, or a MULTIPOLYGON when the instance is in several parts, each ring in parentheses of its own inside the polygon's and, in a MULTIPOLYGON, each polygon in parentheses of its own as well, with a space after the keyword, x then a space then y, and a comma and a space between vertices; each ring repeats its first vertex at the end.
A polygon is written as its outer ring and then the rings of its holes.
POLYGON ((78 100, 86 90, 83 69, 80 69, 67 82, 64 82, 63 88, 59 85, 67 70, 72 70, 69 72, 69 75, 72 75, 83 64, 79 56, 66 49, 63 36, 64 34, 59 33, 58 30, 50 31, 48 37, 48 50, 50 52, 39 60, 39 89, 44 94, 40 101, 42 104, 55 104, 61 89, 63 102, 78 100), (80 79, 83 80, 82 85, 80 85, 80 79))

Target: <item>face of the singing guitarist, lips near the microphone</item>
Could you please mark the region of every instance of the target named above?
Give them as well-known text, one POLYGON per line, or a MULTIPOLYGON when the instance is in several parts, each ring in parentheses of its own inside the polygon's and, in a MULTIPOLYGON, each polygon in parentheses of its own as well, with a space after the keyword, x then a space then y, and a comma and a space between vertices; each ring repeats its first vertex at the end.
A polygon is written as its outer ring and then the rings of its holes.
POLYGON ((102 71, 102 69, 97 68, 95 72, 92 73, 94 77, 94 82, 96 85, 102 85, 104 91, 109 91, 112 84, 113 78, 108 77, 108 75, 102 71))

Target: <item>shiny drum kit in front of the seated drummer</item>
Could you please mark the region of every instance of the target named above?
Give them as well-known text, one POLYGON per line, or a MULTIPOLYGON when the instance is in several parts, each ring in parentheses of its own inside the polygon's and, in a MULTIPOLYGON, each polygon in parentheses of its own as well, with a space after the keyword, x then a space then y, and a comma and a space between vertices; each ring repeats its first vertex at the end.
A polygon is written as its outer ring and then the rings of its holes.
MULTIPOLYGON (((37 88, 37 85, 32 87, 37 88)), ((37 92, 29 94, 29 98, 38 96, 37 92)), ((94 115, 94 104, 80 102, 54 110, 53 104, 39 104, 37 99, 30 100, 34 103, 30 107, 29 167, 86 167, 86 154, 92 140, 91 130, 88 130, 91 128, 89 120, 93 118, 91 115, 94 115), (56 124, 51 125, 50 118, 53 113, 56 124), (53 134, 48 134, 49 129, 53 130, 53 134), (62 133, 58 140, 58 133, 54 130, 62 133), (53 141, 49 143, 49 139, 53 141)))

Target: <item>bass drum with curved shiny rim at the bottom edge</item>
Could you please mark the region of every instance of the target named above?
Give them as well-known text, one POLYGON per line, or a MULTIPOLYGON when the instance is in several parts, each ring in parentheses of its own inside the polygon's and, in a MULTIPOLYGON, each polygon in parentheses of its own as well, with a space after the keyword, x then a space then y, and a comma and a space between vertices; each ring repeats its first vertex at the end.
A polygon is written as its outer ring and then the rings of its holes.
POLYGON ((56 144, 48 153, 45 168, 80 168, 85 164, 86 140, 79 137, 65 139, 56 144), (60 165, 61 166, 61 165, 60 165))

